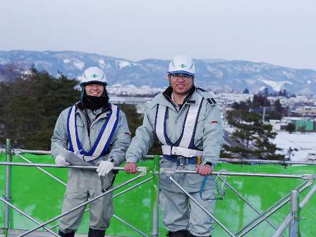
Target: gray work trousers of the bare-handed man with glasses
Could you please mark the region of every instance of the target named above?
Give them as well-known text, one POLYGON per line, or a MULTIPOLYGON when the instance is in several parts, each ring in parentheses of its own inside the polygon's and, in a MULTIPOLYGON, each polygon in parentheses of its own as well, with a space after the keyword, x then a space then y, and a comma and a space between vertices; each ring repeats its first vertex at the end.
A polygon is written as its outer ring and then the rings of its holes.
MULTIPOLYGON (((164 226, 169 231, 189 230, 195 236, 210 236, 214 230, 214 220, 184 193, 174 193, 162 188, 164 226)), ((199 192, 190 193, 208 212, 214 214, 214 189, 204 190, 202 200, 199 192)))

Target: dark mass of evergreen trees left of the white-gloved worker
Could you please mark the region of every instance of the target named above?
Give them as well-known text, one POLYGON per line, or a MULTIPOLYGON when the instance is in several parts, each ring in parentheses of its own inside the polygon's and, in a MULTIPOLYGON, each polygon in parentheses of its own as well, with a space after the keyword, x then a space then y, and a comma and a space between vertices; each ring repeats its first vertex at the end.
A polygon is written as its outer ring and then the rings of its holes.
POLYGON ((50 150, 60 112, 80 98, 74 89, 77 83, 35 68, 27 78, 0 83, 1 95, 5 95, 0 107, 0 142, 11 138, 13 147, 50 150))

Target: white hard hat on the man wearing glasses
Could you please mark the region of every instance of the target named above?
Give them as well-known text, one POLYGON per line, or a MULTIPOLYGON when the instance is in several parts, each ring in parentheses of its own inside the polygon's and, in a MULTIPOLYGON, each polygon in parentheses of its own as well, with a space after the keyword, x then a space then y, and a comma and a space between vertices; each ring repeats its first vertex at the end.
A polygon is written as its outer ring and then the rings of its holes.
POLYGON ((195 75, 195 66, 190 56, 179 54, 171 60, 168 73, 186 73, 195 75))

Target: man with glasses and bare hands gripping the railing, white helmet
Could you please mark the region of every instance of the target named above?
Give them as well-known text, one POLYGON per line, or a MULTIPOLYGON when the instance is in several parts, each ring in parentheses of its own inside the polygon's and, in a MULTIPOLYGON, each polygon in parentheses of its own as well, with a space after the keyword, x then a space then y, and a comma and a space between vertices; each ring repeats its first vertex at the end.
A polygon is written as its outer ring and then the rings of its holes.
MULTIPOLYGON (((189 56, 175 56, 167 78, 170 86, 148 105, 142 126, 136 130, 126 152, 124 169, 135 173, 136 163, 147 154, 157 135, 164 155, 160 166, 197 171, 200 175, 174 174, 173 177, 214 213, 216 183, 214 176, 207 175, 217 164, 224 141, 217 102, 208 92, 195 87, 195 65, 189 56)), ((159 186, 167 236, 211 236, 213 219, 176 187, 167 174, 159 175, 159 186)))

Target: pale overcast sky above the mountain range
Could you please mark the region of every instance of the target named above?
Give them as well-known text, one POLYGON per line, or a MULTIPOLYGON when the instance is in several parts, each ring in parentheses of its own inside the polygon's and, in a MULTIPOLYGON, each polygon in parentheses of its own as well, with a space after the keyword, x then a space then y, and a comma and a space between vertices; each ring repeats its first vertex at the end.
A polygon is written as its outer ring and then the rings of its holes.
POLYGON ((0 35, 4 51, 186 53, 316 70, 315 0, 6 0, 0 35))

